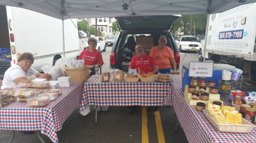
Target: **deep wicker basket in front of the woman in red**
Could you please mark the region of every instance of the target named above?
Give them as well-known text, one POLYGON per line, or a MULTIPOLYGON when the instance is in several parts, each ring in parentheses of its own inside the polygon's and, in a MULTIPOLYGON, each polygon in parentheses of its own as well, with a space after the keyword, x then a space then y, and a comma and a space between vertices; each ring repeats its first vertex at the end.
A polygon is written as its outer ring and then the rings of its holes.
POLYGON ((86 81, 87 77, 90 75, 90 69, 92 66, 85 65, 79 68, 67 68, 66 65, 63 66, 66 70, 67 76, 72 77, 72 81, 86 81))

